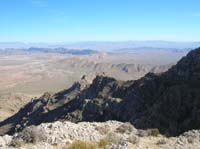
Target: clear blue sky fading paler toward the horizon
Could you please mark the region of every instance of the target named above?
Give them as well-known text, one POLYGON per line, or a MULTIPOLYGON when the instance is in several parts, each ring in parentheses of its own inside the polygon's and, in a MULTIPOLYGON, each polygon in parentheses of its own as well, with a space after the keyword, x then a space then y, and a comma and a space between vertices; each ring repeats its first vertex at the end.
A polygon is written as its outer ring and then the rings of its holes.
POLYGON ((0 42, 200 41, 200 0, 0 0, 0 42))

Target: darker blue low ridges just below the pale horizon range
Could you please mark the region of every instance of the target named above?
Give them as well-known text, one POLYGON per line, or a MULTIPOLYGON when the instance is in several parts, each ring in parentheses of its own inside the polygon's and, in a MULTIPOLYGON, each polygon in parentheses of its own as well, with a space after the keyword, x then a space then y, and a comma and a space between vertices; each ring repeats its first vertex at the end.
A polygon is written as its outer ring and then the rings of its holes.
MULTIPOLYGON (((154 48, 154 47, 138 47, 138 48, 120 48, 116 50, 108 50, 106 53, 108 54, 119 54, 119 53, 148 53, 148 52, 171 52, 171 53, 187 53, 191 49, 184 48, 154 48)), ((41 48, 41 47, 30 47, 30 48, 6 48, 0 49, 0 54, 30 54, 30 53, 58 53, 58 54, 71 54, 71 55, 90 55, 90 54, 98 54, 103 51, 93 50, 93 49, 73 49, 73 48, 41 48)), ((104 51, 105 52, 105 51, 104 51)))

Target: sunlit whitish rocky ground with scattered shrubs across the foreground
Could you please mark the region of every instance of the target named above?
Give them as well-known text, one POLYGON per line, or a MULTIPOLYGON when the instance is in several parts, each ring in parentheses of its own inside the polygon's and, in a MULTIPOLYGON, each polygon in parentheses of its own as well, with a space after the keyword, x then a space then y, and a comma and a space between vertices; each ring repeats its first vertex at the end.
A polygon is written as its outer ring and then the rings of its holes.
POLYGON ((79 149, 81 144, 87 146, 84 149, 198 149, 200 130, 167 138, 158 129, 139 130, 118 121, 78 124, 56 121, 0 137, 1 149, 79 149))

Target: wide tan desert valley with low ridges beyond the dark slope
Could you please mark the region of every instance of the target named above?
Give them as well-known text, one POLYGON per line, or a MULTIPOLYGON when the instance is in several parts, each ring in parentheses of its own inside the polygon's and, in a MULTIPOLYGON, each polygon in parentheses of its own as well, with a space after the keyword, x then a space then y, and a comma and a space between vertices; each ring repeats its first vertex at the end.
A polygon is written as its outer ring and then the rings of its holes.
POLYGON ((64 48, 0 50, 1 119, 15 113, 31 98, 44 92, 58 92, 87 75, 135 80, 148 72, 168 70, 189 50, 129 48, 112 52, 64 48), (9 99, 9 101, 7 100, 9 99))

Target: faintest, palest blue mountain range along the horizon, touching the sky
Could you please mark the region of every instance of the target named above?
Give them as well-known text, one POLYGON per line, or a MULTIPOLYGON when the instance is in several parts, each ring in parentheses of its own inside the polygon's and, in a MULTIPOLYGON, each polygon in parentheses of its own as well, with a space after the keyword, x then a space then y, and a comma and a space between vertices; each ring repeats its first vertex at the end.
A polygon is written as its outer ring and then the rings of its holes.
POLYGON ((127 48, 175 48, 175 49, 194 49, 200 46, 200 42, 172 42, 172 41, 88 41, 88 42, 60 42, 60 43, 22 43, 22 42, 0 42, 0 49, 5 48, 59 48, 67 49, 94 49, 101 51, 113 51, 127 48))

